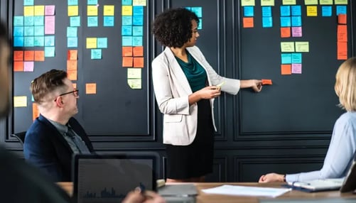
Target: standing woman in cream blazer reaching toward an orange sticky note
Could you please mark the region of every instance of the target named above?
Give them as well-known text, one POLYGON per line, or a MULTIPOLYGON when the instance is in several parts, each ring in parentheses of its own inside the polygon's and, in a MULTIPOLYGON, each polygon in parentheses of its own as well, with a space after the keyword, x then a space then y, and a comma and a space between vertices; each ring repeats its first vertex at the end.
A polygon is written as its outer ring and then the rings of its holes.
POLYGON ((212 172, 215 122, 213 101, 220 91, 240 88, 261 91, 257 79, 217 75, 195 46, 198 16, 187 9, 170 9, 156 16, 153 34, 166 49, 152 62, 153 88, 163 116, 167 182, 204 182, 212 172))

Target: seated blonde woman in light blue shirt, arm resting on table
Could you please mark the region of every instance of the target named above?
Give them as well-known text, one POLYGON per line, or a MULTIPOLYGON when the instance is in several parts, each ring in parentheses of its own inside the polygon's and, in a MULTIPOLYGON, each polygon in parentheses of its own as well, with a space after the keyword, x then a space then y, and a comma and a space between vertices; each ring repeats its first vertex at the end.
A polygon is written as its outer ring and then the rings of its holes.
POLYGON ((346 112, 335 122, 323 168, 286 175, 272 172, 261 175, 259 182, 306 181, 347 175, 356 150, 356 57, 340 65, 336 73, 335 92, 339 97, 339 106, 346 112))

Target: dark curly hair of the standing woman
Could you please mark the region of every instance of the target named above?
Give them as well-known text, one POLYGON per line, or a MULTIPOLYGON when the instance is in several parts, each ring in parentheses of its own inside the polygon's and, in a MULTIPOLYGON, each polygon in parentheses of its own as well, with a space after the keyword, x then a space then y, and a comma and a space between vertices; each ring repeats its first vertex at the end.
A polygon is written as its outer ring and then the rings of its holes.
POLYGON ((199 18, 187 9, 169 9, 156 16, 153 35, 164 46, 180 48, 192 37, 192 20, 199 18))

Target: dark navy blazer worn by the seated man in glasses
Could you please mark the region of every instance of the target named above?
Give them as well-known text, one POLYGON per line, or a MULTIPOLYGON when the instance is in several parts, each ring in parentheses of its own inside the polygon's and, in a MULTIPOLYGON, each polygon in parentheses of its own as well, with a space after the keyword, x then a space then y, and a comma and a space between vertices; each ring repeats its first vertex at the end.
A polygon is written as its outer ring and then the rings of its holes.
MULTIPOLYGON (((68 123, 73 131, 85 141, 90 152, 93 152, 92 143, 78 121, 71 118, 68 123)), ((72 181, 73 151, 63 135, 44 116, 40 115, 28 128, 23 144, 23 154, 29 163, 53 177, 53 181, 72 181)))

